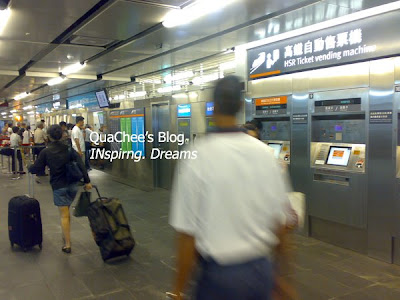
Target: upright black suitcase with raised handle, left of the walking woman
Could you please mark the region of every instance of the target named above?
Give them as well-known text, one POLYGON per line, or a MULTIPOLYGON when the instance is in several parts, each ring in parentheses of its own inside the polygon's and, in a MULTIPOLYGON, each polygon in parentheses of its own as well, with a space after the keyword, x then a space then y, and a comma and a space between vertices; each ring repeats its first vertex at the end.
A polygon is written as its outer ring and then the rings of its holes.
POLYGON ((42 249, 42 219, 39 201, 33 198, 33 176, 29 176, 30 196, 17 196, 8 203, 8 234, 11 247, 27 251, 36 245, 42 249), (32 186, 32 189, 31 189, 32 186))

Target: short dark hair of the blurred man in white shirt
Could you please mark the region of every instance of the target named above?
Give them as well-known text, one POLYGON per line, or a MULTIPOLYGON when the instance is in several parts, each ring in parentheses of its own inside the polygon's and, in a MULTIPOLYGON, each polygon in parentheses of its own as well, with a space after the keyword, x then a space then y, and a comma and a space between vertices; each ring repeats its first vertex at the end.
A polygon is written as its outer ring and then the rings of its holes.
POLYGON ((235 116, 242 105, 240 79, 227 76, 217 82, 214 90, 215 113, 235 116))

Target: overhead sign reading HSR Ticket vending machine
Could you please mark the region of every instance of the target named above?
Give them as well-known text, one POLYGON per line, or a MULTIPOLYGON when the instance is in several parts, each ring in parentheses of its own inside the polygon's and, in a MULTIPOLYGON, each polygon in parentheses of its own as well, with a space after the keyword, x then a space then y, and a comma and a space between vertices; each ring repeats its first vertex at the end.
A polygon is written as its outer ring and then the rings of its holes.
POLYGON ((249 49, 249 80, 398 55, 399 27, 395 11, 249 49))

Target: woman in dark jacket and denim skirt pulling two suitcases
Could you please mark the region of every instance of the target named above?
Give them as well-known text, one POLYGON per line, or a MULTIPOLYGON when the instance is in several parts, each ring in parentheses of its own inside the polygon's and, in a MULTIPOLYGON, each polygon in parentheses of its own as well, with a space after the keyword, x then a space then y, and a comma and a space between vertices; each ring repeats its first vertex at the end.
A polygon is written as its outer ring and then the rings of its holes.
POLYGON ((70 234, 70 206, 78 192, 76 182, 70 182, 66 175, 66 165, 71 160, 78 163, 79 169, 83 174, 85 189, 90 190, 92 185, 85 169, 82 159, 72 148, 62 143, 63 132, 59 125, 52 125, 47 131, 51 143, 40 152, 35 164, 29 167, 32 174, 44 172, 46 166, 50 168, 50 184, 53 189, 54 204, 58 206, 61 215, 61 228, 65 244, 62 251, 71 253, 71 234, 70 234))

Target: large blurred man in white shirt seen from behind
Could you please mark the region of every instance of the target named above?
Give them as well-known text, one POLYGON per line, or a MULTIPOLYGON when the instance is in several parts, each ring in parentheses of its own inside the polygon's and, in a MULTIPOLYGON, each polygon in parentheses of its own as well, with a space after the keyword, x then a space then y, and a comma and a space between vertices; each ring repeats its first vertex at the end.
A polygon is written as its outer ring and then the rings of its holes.
POLYGON ((215 88, 217 132, 198 140, 174 180, 170 224, 178 232, 173 295, 181 293, 196 262, 197 300, 269 300, 270 261, 280 241, 289 200, 268 146, 236 127, 240 80, 215 88))

